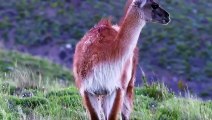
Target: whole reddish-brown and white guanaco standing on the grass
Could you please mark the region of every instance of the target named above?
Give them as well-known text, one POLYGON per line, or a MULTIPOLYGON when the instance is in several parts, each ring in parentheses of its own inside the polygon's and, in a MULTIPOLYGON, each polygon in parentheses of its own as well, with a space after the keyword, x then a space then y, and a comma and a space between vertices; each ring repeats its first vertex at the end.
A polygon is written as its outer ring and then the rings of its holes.
POLYGON ((75 83, 91 120, 130 119, 141 30, 170 21, 154 0, 128 0, 125 8, 119 25, 102 19, 76 45, 75 83))

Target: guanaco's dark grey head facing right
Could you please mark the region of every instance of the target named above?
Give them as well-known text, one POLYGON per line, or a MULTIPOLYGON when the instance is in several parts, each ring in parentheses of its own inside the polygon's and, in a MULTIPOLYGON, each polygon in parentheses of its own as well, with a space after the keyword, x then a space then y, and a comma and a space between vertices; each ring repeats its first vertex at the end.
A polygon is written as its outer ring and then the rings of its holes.
POLYGON ((168 24, 170 22, 169 13, 155 0, 128 0, 125 9, 128 9, 130 5, 136 8, 142 19, 147 22, 160 24, 168 24))

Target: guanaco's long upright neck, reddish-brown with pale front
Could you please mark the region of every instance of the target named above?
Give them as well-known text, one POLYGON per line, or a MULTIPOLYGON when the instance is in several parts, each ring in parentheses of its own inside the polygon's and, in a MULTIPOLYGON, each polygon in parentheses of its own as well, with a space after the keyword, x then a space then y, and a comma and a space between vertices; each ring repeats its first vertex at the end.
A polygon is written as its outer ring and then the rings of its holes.
POLYGON ((120 52, 125 55, 132 54, 134 51, 140 32, 146 23, 137 10, 133 6, 129 8, 117 36, 120 52))

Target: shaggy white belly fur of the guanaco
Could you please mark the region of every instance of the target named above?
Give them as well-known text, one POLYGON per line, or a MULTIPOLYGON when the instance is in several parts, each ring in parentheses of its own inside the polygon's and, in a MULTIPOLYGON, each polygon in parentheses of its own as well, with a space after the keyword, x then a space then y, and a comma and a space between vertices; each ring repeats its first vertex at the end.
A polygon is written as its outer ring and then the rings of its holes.
MULTIPOLYGON (((95 94, 99 90, 107 90, 109 94, 117 88, 122 87, 121 76, 124 68, 125 60, 116 61, 114 63, 101 63, 93 68, 92 73, 83 80, 80 92, 87 91, 95 94)), ((132 59, 127 67, 127 82, 129 83, 132 73, 132 59)))

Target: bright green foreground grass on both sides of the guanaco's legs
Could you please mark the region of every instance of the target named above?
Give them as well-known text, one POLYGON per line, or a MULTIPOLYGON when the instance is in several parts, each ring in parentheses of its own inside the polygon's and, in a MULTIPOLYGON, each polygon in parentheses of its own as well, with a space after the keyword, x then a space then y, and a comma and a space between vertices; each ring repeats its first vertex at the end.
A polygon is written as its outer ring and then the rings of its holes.
MULTIPOLYGON (((149 88, 152 86, 148 86, 149 88)), ((155 89, 152 87, 152 89, 155 89)), ((29 90, 32 91, 32 90, 29 90)), ((35 91, 35 89, 34 89, 35 91)), ((170 97, 162 100, 150 97, 152 91, 136 88, 134 111, 135 120, 210 120, 212 102, 203 102, 196 98, 176 97, 163 89, 170 97), (140 91, 140 92, 137 92, 140 91), (145 93, 145 94, 143 94, 145 93)), ((74 86, 58 88, 23 98, 8 93, 0 93, 0 116, 4 119, 42 118, 42 119, 87 119, 81 98, 74 86)))

